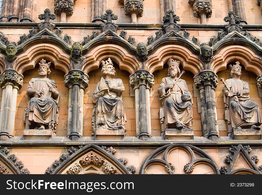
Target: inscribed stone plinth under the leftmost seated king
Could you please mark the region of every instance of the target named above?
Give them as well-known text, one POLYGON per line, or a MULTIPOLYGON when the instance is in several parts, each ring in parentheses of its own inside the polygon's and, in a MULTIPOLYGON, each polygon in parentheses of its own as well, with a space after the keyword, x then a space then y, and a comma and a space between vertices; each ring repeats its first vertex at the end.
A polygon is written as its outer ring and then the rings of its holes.
POLYGON ((49 140, 52 139, 52 129, 38 130, 38 129, 25 129, 24 140, 49 140))

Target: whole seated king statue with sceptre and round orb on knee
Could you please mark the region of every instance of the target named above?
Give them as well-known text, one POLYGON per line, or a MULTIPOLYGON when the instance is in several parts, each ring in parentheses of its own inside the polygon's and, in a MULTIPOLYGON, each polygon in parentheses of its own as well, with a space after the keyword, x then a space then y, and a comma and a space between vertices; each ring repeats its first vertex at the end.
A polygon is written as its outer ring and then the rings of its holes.
POLYGON ((180 61, 169 59, 168 77, 162 79, 158 93, 162 102, 159 118, 162 133, 165 129, 191 128, 193 102, 185 80, 180 79, 180 61))

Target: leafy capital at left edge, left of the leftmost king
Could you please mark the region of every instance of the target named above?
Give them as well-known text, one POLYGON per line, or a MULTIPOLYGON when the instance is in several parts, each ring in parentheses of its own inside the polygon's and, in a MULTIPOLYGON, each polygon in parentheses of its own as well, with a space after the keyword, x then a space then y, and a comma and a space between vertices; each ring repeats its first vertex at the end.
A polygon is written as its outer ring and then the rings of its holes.
POLYGON ((13 85, 18 90, 23 86, 23 75, 14 69, 6 69, 0 75, 0 87, 3 89, 6 85, 13 85))

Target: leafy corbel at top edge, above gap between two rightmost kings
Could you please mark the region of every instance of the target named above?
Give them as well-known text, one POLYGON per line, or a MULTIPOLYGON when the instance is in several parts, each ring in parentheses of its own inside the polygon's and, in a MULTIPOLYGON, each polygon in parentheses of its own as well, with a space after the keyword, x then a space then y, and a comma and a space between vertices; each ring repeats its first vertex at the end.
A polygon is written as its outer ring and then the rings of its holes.
POLYGON ((201 14, 205 14, 207 18, 210 18, 212 15, 212 1, 194 1, 193 13, 197 18, 200 18, 201 14))

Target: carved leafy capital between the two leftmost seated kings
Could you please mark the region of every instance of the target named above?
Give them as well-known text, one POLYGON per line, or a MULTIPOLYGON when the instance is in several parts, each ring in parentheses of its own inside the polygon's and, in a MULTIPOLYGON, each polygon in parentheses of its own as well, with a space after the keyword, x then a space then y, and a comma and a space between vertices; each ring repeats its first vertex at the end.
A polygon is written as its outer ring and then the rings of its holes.
POLYGON ((88 87, 88 79, 89 76, 83 71, 73 69, 65 75, 65 86, 69 89, 72 88, 73 85, 79 85, 80 88, 85 90, 85 88, 88 87))

